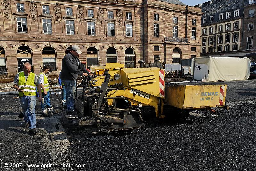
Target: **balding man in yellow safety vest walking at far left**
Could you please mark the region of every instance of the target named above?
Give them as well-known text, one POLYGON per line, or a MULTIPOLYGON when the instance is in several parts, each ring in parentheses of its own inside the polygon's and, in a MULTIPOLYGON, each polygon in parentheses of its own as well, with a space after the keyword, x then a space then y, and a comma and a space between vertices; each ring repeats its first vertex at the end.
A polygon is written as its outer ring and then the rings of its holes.
MULTIPOLYGON (((19 91, 20 104, 24 113, 24 128, 30 129, 31 134, 36 134, 36 87, 40 89, 38 77, 31 72, 31 64, 26 62, 23 64, 24 72, 17 74, 14 78, 14 89, 19 91)), ((39 102, 42 100, 42 93, 39 92, 39 102)))

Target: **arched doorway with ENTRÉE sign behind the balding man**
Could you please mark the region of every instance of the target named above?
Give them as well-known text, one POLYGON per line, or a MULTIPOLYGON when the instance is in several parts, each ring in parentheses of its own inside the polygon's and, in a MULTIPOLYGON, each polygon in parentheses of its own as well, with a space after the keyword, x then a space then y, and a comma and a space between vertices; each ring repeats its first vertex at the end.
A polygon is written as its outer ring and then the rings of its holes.
POLYGON ((22 45, 17 49, 18 72, 23 71, 23 64, 28 62, 31 64, 31 71, 33 71, 32 51, 28 46, 22 45))

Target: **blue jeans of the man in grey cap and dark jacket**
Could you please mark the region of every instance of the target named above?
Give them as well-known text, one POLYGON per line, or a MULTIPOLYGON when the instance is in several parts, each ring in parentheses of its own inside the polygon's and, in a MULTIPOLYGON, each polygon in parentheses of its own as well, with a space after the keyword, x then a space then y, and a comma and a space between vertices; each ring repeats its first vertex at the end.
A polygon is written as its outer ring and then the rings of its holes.
POLYGON ((66 105, 67 110, 73 111, 74 107, 74 96, 76 90, 76 81, 75 80, 62 80, 66 89, 66 105))

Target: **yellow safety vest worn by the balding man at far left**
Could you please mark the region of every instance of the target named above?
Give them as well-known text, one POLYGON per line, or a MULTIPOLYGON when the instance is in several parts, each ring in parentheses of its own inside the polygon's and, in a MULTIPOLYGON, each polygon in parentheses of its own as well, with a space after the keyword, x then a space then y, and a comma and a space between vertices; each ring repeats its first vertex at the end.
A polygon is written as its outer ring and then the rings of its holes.
POLYGON ((35 74, 30 72, 27 80, 25 79, 24 72, 19 74, 19 88, 22 89, 22 92, 19 92, 19 96, 36 96, 36 85, 35 85, 35 74))

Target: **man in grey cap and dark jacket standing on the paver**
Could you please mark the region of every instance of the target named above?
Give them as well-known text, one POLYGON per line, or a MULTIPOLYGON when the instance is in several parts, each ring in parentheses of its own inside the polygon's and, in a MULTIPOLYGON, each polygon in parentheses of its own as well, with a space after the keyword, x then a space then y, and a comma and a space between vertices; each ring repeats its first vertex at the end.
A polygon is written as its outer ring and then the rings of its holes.
POLYGON ((74 108, 74 95, 76 89, 76 79, 78 75, 88 76, 89 74, 84 65, 79 61, 78 55, 81 54, 78 46, 72 46, 72 51, 62 59, 62 69, 60 78, 66 89, 66 105, 68 114, 77 114, 74 108))

